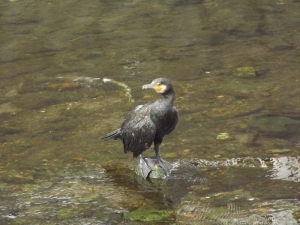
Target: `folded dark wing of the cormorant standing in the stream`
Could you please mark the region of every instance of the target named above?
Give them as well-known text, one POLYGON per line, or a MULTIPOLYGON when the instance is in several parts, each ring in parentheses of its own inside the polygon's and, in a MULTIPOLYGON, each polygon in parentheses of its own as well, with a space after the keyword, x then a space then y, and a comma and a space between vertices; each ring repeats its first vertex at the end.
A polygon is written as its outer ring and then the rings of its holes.
POLYGON ((130 111, 121 126, 124 151, 133 152, 137 157, 150 148, 156 128, 150 119, 151 107, 149 104, 139 105, 130 111))

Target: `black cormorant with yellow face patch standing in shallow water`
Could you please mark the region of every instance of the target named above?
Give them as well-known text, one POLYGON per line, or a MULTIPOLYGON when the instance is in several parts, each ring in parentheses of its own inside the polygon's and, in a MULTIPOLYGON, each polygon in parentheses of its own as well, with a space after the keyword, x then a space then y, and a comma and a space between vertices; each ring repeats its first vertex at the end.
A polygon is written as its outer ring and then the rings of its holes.
POLYGON ((169 166, 160 156, 160 144, 178 122, 178 112, 173 105, 175 92, 172 83, 165 78, 157 78, 143 89, 154 89, 162 98, 145 105, 138 105, 125 117, 120 129, 108 133, 103 139, 121 139, 124 152, 132 152, 136 158, 151 147, 154 142, 155 157, 140 156, 140 169, 144 178, 154 169, 155 164, 169 173, 169 166))

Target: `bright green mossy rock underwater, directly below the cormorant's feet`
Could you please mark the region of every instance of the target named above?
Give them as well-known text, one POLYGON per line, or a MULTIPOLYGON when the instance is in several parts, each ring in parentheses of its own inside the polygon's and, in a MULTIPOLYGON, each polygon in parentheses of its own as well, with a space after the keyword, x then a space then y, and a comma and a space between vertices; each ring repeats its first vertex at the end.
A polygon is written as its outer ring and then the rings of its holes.
POLYGON ((171 213, 162 209, 138 208, 125 214, 125 219, 133 221, 154 222, 166 220, 171 217, 171 213))

